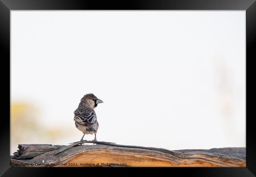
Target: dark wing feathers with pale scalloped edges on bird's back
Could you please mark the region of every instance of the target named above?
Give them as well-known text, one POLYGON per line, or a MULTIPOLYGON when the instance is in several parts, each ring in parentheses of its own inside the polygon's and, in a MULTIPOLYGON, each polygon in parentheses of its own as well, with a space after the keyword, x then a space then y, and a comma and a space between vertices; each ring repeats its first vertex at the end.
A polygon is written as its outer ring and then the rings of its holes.
POLYGON ((76 110, 74 111, 74 120, 80 125, 92 125, 96 122, 97 116, 95 111, 91 108, 87 108, 84 111, 76 110))

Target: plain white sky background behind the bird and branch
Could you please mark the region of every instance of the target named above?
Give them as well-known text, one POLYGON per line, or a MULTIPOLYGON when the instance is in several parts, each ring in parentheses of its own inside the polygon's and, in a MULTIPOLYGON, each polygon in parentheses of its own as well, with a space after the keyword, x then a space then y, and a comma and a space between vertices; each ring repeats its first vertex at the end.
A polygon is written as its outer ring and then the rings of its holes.
POLYGON ((245 147, 245 11, 11 11, 11 101, 69 131, 91 92, 97 140, 245 147))

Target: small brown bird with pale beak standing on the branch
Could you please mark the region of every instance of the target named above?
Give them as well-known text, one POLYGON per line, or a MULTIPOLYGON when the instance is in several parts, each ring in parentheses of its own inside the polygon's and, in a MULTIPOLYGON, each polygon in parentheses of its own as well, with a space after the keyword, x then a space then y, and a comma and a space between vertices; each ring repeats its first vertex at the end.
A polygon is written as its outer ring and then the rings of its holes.
MULTIPOLYGON (((93 134, 95 138, 93 141, 96 141, 96 133, 99 127, 97 116, 95 114, 95 107, 98 103, 103 103, 102 100, 98 99, 94 94, 86 94, 81 99, 78 108, 74 111, 74 121, 76 128, 83 132, 83 136, 86 134, 93 134)), ((83 136, 80 141, 83 140, 83 136)))

